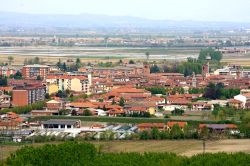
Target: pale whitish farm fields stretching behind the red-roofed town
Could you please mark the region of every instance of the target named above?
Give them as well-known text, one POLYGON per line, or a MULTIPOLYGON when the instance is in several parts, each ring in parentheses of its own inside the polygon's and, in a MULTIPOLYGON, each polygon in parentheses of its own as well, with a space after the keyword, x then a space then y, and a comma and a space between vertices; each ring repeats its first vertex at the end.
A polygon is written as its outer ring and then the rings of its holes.
MULTIPOLYGON (((145 52, 150 52, 151 60, 183 61, 187 57, 198 57, 196 47, 183 48, 126 48, 126 47, 0 47, 0 62, 8 62, 8 56, 14 57, 13 65, 22 65, 24 59, 39 57, 46 63, 56 63, 59 59, 79 57, 82 62, 118 61, 119 59, 144 59, 145 52)), ((250 54, 224 54, 222 62, 250 66, 250 54)))

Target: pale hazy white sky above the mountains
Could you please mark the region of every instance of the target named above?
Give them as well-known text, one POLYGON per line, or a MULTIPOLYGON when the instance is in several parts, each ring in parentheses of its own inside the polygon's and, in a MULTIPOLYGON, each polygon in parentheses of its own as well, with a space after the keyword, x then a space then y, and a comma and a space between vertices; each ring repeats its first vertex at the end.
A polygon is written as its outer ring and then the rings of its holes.
POLYGON ((250 22, 250 0, 0 0, 0 11, 250 22))

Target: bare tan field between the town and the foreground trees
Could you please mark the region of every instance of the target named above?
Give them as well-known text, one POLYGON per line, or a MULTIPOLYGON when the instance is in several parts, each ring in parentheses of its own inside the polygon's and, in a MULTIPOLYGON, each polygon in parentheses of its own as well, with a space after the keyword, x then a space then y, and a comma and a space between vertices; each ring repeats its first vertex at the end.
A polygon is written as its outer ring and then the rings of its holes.
MULTIPOLYGON (((200 140, 164 140, 164 141, 91 141, 97 147, 101 145, 103 152, 174 152, 180 155, 192 156, 203 152, 200 140)), ((32 146, 43 145, 33 144, 32 146)), ((0 157, 6 158, 21 146, 0 146, 0 157)), ((206 152, 245 152, 250 153, 250 139, 228 139, 206 142, 206 152)))

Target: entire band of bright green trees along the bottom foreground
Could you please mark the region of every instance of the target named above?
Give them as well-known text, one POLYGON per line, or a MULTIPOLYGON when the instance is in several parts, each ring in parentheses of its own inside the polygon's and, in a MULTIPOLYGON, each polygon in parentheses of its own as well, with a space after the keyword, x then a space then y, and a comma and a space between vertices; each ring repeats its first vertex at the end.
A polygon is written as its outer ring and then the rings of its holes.
POLYGON ((63 144, 23 147, 5 161, 5 165, 82 165, 82 166, 245 166, 250 155, 245 153, 205 153, 192 157, 174 153, 104 153, 101 146, 89 143, 65 142, 63 144))

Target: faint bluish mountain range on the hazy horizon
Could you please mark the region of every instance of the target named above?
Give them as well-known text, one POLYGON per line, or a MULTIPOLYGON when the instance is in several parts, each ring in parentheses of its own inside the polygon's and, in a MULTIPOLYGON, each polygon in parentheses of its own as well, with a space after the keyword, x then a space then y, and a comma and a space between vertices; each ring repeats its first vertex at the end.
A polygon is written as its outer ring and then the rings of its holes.
POLYGON ((249 28, 250 23, 151 20, 127 16, 94 14, 24 14, 0 12, 1 27, 62 27, 62 28, 150 28, 209 30, 249 28))

